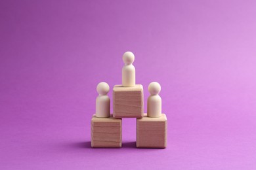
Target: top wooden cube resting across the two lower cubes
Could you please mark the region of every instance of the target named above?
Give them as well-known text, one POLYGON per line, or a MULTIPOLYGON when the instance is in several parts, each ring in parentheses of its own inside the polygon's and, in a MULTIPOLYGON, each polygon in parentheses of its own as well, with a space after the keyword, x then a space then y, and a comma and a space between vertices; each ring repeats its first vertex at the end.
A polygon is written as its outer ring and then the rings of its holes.
POLYGON ((134 87, 114 86, 114 118, 142 118, 143 110, 143 86, 141 84, 136 84, 134 87))

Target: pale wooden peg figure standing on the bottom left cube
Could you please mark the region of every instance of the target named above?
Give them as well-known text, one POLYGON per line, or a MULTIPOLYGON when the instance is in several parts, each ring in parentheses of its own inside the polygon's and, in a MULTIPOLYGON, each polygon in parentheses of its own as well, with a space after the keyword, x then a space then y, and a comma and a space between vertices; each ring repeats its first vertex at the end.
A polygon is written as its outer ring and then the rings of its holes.
POLYGON ((106 82, 100 82, 96 88, 98 97, 96 98, 96 117, 108 118, 110 117, 110 97, 108 92, 110 86, 106 82))

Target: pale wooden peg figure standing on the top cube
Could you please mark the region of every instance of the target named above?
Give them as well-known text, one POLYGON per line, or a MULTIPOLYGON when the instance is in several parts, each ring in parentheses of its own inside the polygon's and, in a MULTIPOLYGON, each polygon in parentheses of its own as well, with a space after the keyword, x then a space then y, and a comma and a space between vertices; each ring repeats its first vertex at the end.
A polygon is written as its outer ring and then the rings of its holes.
POLYGON ((135 86, 135 67, 133 61, 135 56, 132 52, 125 52, 123 54, 123 62, 125 65, 122 69, 122 85, 125 87, 135 86))

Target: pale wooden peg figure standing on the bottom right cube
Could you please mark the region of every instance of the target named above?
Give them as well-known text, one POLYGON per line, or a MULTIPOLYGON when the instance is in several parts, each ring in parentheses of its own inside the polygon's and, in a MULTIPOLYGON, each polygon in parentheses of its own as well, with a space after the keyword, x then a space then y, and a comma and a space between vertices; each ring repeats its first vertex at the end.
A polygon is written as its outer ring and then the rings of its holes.
POLYGON ((148 97, 148 117, 161 117, 161 97, 158 95, 161 91, 161 86, 158 82, 151 82, 148 85, 150 96, 148 97))

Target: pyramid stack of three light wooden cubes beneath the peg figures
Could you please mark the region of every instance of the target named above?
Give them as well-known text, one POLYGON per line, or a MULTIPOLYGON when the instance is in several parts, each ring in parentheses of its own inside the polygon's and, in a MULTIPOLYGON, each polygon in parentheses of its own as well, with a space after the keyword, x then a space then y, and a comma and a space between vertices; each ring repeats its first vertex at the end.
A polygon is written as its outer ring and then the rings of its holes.
MULTIPOLYGON (((125 78, 124 73, 123 78, 125 78)), ((158 116, 150 117, 154 113, 150 115, 144 113, 143 86, 135 84, 135 80, 133 82, 128 80, 127 86, 124 86, 125 80, 122 82, 122 85, 116 85, 113 88, 113 114, 103 118, 95 114, 91 119, 91 146, 93 148, 120 148, 122 118, 137 118, 137 148, 165 148, 167 146, 166 115, 160 113, 158 116)), ((154 111, 154 109, 150 110, 154 111)))

